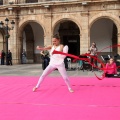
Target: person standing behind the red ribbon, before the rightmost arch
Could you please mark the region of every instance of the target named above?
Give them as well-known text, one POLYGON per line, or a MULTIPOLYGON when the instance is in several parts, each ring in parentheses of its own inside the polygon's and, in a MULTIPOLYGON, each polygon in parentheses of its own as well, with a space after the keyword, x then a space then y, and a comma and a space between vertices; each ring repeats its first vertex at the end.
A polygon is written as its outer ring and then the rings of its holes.
MULTIPOLYGON (((98 51, 98 49, 97 49, 97 47, 96 47, 96 43, 93 42, 92 45, 91 45, 91 47, 90 47, 90 55, 91 55, 91 56, 94 56, 94 57, 97 57, 97 51, 98 51)), ((93 66, 94 66, 94 64, 95 64, 95 67, 97 67, 97 60, 95 60, 95 59, 93 59, 93 58, 91 57, 90 62, 91 62, 91 64, 92 64, 93 66)), ((91 65, 90 70, 93 70, 92 65, 91 65)))

